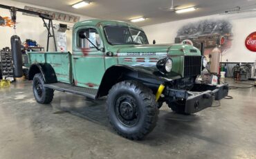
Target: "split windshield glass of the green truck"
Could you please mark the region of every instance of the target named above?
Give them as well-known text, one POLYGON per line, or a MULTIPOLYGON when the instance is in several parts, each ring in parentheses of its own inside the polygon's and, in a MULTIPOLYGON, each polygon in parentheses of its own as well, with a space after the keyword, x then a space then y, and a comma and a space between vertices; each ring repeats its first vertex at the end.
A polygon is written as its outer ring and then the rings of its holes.
POLYGON ((104 31, 112 45, 149 44, 147 36, 141 30, 127 26, 105 26, 104 31))

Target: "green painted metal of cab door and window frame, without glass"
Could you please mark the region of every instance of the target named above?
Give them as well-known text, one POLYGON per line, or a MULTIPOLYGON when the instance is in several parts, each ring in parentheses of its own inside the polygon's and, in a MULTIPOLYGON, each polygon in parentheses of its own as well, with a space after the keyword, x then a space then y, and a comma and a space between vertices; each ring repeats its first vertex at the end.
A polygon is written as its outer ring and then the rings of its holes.
POLYGON ((95 28, 100 37, 100 28, 93 25, 74 26, 73 28, 73 77, 76 86, 98 88, 105 72, 104 53, 96 48, 90 48, 86 55, 81 48, 77 48, 77 31, 84 28, 95 28))

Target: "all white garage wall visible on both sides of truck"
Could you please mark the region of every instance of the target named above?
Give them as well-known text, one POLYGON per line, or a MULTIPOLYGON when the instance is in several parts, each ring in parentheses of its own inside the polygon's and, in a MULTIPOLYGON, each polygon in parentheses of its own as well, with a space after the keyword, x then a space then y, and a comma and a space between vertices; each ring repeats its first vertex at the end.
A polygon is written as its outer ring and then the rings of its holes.
MULTIPOLYGON (((30 5, 27 3, 19 3, 17 1, 0 0, 0 3, 7 6, 15 6, 17 8, 24 8, 24 6, 32 6, 35 8, 42 8, 45 10, 52 10, 55 12, 63 12, 60 10, 53 10, 51 8, 44 8, 41 6, 30 5)), ((10 17, 9 10, 0 8, 0 16, 10 17)), ((63 12, 69 15, 76 15, 71 12, 63 12)), ((84 15, 77 15, 80 21, 86 19, 93 19, 84 15)), ((227 19, 232 24, 233 40, 232 47, 223 53, 222 62, 255 62, 256 53, 250 52, 246 49, 244 42, 246 37, 256 31, 256 12, 246 12, 232 15, 211 15, 206 17, 199 17, 194 19, 185 19, 181 21, 172 21, 164 24, 155 24, 151 26, 144 26, 149 42, 155 39, 157 44, 173 44, 179 28, 186 24, 196 23, 204 19, 227 19), (243 58, 241 58, 243 57, 243 58)), ((53 21, 53 24, 67 24, 72 27, 74 24, 63 21, 53 21)), ((47 31, 44 27, 43 21, 39 17, 30 17, 22 15, 22 12, 17 12, 17 35, 21 37, 21 41, 26 39, 33 39, 41 46, 46 47, 47 31)), ((1 27, 0 35, 2 37, 0 48, 9 46, 10 37, 15 34, 13 28, 1 27)), ((51 38, 52 39, 52 38, 51 38)), ((67 50, 72 49, 72 30, 66 31, 67 50)), ((50 50, 54 50, 53 41, 50 42, 50 50)))

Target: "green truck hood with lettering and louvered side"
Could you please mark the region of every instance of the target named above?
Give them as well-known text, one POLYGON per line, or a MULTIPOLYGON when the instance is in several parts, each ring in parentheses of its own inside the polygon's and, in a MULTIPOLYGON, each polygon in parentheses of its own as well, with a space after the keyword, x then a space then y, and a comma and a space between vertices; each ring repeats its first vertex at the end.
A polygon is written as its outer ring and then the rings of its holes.
POLYGON ((115 57, 118 57, 118 64, 131 66, 143 73, 163 76, 156 68, 159 59, 170 57, 173 62, 172 72, 167 74, 167 79, 183 77, 184 57, 201 56, 200 50, 184 44, 158 44, 158 45, 126 45, 113 46, 109 49, 115 57))

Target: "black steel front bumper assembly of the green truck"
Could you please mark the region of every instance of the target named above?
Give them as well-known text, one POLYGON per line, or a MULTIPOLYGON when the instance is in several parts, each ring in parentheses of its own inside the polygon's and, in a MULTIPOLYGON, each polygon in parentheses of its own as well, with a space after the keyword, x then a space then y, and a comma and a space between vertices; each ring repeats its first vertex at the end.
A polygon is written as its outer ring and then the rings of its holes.
POLYGON ((185 100, 185 113, 196 113, 212 106, 213 100, 221 100, 228 95, 228 85, 194 84, 190 91, 165 88, 165 100, 174 102, 185 100))

